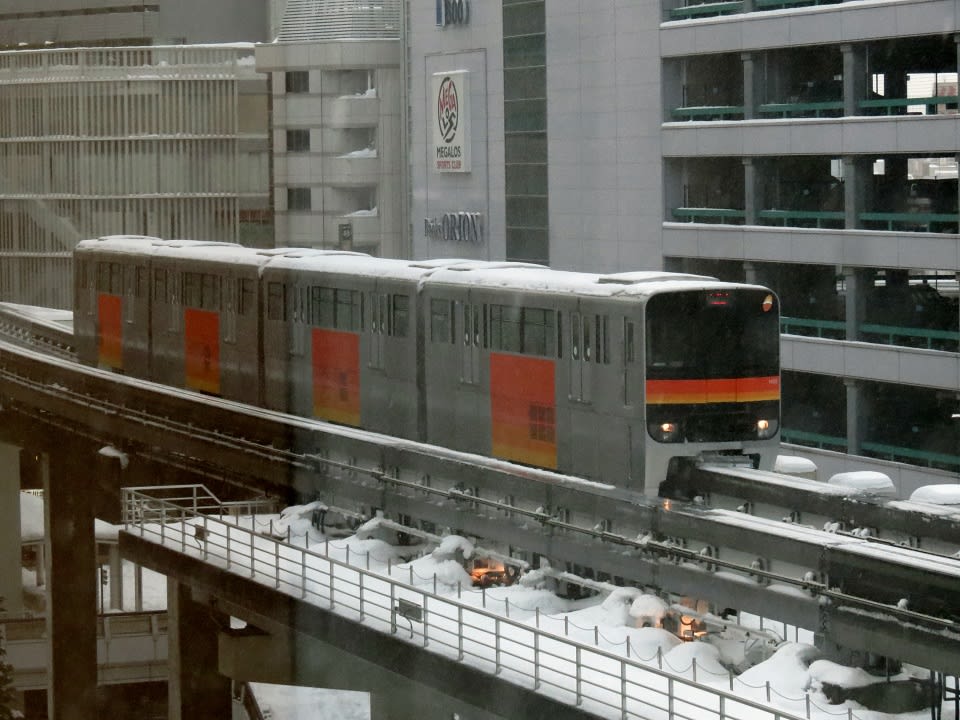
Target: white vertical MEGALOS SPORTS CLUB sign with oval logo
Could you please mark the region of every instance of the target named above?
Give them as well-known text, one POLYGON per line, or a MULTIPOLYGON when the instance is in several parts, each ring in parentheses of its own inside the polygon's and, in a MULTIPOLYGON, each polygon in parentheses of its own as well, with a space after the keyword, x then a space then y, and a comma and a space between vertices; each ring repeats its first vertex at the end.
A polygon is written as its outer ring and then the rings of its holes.
POLYGON ((470 84, 466 70, 433 76, 433 162, 437 172, 470 172, 470 84))

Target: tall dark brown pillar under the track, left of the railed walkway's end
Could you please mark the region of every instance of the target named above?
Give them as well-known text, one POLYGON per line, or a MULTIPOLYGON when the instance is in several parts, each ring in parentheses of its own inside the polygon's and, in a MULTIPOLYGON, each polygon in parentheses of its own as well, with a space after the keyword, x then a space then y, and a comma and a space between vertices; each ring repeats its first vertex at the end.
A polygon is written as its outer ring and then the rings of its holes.
POLYGON ((31 452, 43 479, 50 720, 90 720, 97 712, 97 563, 92 462, 58 440, 56 453, 31 452))

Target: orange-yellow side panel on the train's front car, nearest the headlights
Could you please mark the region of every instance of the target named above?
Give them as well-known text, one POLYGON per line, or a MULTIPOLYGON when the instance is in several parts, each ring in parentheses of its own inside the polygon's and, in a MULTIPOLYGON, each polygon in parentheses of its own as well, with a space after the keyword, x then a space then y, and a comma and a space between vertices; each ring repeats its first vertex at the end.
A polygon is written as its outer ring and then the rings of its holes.
POLYGON ((555 469, 553 361, 490 353, 490 422, 495 457, 555 469))

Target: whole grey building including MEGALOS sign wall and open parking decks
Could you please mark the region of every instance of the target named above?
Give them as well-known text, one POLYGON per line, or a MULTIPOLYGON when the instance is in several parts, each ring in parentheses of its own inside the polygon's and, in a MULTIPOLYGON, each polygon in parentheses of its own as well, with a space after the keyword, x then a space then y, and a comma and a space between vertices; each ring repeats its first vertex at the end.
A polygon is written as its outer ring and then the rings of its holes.
POLYGON ((956 482, 958 22, 957 0, 410 0, 414 255, 767 284, 789 451, 956 482))

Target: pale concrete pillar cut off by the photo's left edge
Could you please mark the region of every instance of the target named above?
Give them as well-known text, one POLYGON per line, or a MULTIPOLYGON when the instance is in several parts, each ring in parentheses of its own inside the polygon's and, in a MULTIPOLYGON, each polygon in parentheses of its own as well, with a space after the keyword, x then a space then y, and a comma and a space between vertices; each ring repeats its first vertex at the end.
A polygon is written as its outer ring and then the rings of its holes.
POLYGON ((23 612, 20 573, 20 448, 0 443, 0 610, 23 612))

